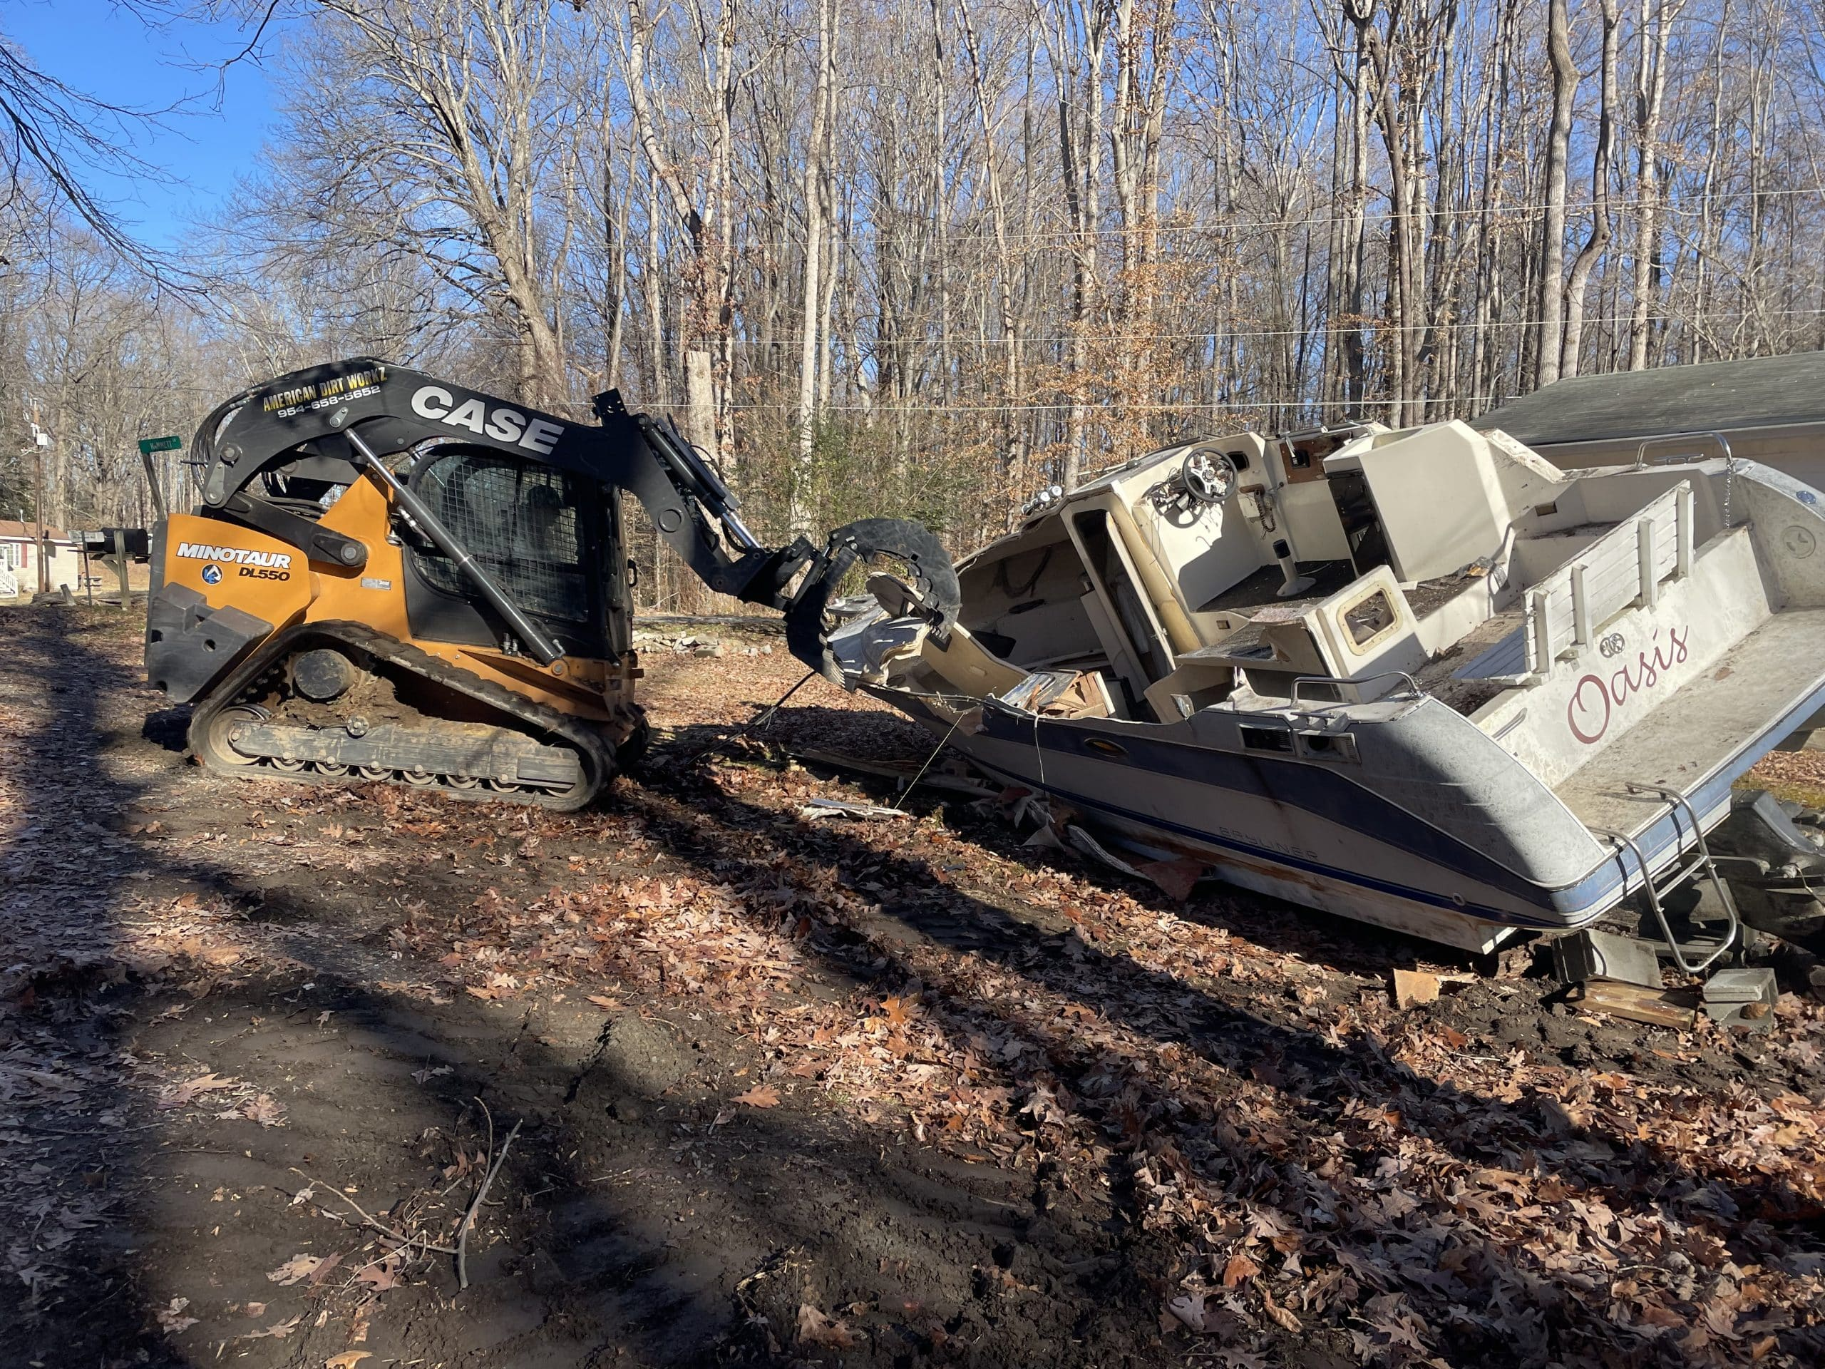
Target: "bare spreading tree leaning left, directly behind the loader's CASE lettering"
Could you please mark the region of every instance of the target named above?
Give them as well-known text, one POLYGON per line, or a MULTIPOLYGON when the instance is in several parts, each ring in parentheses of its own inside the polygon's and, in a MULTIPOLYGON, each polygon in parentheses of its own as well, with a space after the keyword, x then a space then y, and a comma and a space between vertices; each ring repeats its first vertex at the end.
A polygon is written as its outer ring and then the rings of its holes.
POLYGON ((540 221, 560 159, 549 91, 560 46, 537 0, 319 0, 323 42, 294 58, 281 193, 332 254, 409 257, 509 330, 515 391, 557 405, 564 248, 540 221), (321 91, 336 89, 325 100, 321 91))

